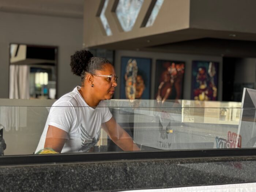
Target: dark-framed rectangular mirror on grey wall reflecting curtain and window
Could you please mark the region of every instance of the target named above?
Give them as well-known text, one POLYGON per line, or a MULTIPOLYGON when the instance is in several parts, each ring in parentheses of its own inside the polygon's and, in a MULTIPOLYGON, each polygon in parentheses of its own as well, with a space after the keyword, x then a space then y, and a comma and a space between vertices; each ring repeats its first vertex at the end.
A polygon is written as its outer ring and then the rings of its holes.
POLYGON ((56 99, 57 53, 54 46, 10 44, 10 99, 56 99))

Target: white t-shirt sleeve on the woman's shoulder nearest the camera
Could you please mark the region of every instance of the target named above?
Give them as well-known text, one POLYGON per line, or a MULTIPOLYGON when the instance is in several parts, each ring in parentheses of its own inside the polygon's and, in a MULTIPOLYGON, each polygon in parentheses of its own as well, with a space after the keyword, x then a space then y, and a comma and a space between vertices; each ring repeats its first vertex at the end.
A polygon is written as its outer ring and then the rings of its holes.
POLYGON ((49 123, 59 129, 69 132, 72 124, 75 120, 74 107, 70 105, 68 101, 61 101, 56 105, 53 105, 49 113, 49 123))

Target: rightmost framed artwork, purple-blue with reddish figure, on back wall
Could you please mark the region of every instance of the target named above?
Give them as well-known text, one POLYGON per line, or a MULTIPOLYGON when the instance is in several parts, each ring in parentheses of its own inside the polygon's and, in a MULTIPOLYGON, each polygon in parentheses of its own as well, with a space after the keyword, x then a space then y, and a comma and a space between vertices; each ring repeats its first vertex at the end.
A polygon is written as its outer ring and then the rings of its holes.
POLYGON ((218 62, 192 62, 191 99, 216 101, 218 98, 218 62))

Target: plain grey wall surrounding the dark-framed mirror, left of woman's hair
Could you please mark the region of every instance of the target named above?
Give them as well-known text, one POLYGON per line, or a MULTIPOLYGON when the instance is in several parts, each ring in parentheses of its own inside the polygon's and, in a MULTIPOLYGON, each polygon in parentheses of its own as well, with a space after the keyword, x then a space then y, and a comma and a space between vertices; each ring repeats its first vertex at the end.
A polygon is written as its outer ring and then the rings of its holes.
POLYGON ((58 46, 58 97, 80 78, 71 73, 70 56, 82 49, 83 19, 0 11, 0 98, 8 98, 10 43, 58 46))

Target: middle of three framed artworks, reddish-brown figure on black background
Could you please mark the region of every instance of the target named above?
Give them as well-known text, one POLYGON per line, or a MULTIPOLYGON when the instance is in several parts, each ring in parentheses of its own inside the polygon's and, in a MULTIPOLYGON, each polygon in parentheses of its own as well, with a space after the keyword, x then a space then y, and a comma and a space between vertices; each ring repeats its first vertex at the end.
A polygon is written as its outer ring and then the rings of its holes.
POLYGON ((156 61, 155 99, 182 99, 185 62, 156 61))

